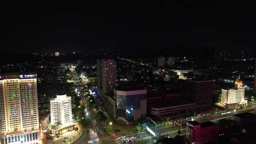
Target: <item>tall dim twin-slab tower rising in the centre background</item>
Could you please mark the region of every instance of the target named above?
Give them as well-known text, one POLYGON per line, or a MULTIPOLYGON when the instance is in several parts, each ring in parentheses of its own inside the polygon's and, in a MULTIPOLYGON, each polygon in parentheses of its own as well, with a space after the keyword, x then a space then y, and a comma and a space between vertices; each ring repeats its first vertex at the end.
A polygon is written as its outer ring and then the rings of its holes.
POLYGON ((114 90, 116 85, 116 61, 114 59, 98 60, 98 86, 104 93, 114 90))

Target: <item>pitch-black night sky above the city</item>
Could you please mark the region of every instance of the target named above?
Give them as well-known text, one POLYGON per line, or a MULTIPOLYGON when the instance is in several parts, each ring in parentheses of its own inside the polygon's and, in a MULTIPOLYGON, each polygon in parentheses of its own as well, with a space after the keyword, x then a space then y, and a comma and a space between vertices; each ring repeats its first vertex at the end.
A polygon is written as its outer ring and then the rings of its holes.
MULTIPOLYGON (((204 0, 202 0, 204 1, 204 0)), ((250 3, 77 3, 4 7, 1 50, 92 52, 172 47, 256 48, 250 3)))

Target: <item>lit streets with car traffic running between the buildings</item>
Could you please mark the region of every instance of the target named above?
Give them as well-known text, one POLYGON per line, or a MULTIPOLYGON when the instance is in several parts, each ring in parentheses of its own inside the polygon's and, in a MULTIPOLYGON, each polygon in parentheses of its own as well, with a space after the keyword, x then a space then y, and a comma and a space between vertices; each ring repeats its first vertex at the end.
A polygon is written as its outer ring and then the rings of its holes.
MULTIPOLYGON (((136 142, 137 144, 140 143, 140 141, 142 140, 146 140, 149 142, 152 142, 154 140, 156 140, 156 138, 151 135, 148 131, 144 131, 141 133, 136 133, 136 134, 116 134, 116 138, 120 137, 118 139, 113 139, 113 137, 107 133, 106 131, 106 126, 103 125, 102 122, 98 122, 96 120, 96 111, 90 109, 90 111, 87 111, 87 97, 83 95, 84 91, 81 89, 81 85, 79 82, 75 82, 76 85, 76 93, 77 96, 82 98, 82 103, 85 107, 85 113, 84 113, 84 117, 87 123, 87 127, 86 127, 86 134, 84 134, 84 136, 81 137, 81 139, 79 141, 76 141, 74 144, 123 144, 124 140, 127 140, 128 143, 132 143, 136 142), (103 136, 102 136, 103 134, 103 136), (136 140, 136 141, 135 141, 136 140)), ((92 96, 95 101, 99 101, 99 99, 97 98, 97 96, 92 96)), ((223 118, 231 118, 233 114, 237 114, 237 113, 244 113, 244 112, 253 112, 254 108, 251 109, 240 109, 237 110, 236 112, 230 112, 230 113, 226 113, 223 115, 217 115, 217 116, 213 116, 213 117, 200 117, 200 118, 195 118, 196 121, 198 122, 205 122, 205 121, 212 121, 217 123, 220 119, 223 118)), ((186 124, 183 124, 181 126, 171 126, 171 127, 167 127, 167 128, 161 128, 161 129, 156 129, 155 133, 157 133, 158 135, 165 135, 166 137, 172 137, 174 138, 176 135, 178 135, 178 130, 181 130, 181 134, 180 135, 185 135, 186 134, 186 124)))

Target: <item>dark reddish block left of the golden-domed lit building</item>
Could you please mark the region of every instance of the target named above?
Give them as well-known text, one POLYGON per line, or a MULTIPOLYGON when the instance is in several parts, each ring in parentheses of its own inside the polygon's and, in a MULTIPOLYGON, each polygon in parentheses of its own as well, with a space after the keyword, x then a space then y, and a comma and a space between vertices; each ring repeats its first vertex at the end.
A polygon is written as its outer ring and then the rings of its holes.
POLYGON ((188 96, 199 108, 208 108, 212 104, 212 90, 213 80, 190 80, 188 96))

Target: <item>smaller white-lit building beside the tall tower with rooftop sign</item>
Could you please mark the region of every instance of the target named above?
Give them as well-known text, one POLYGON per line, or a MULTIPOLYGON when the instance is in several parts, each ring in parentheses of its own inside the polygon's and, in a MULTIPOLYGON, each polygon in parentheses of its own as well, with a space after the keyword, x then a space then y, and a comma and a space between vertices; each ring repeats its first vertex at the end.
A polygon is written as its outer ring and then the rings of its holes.
POLYGON ((66 95, 57 95, 55 99, 50 100, 51 125, 61 123, 63 126, 72 124, 72 105, 71 97, 66 95))

